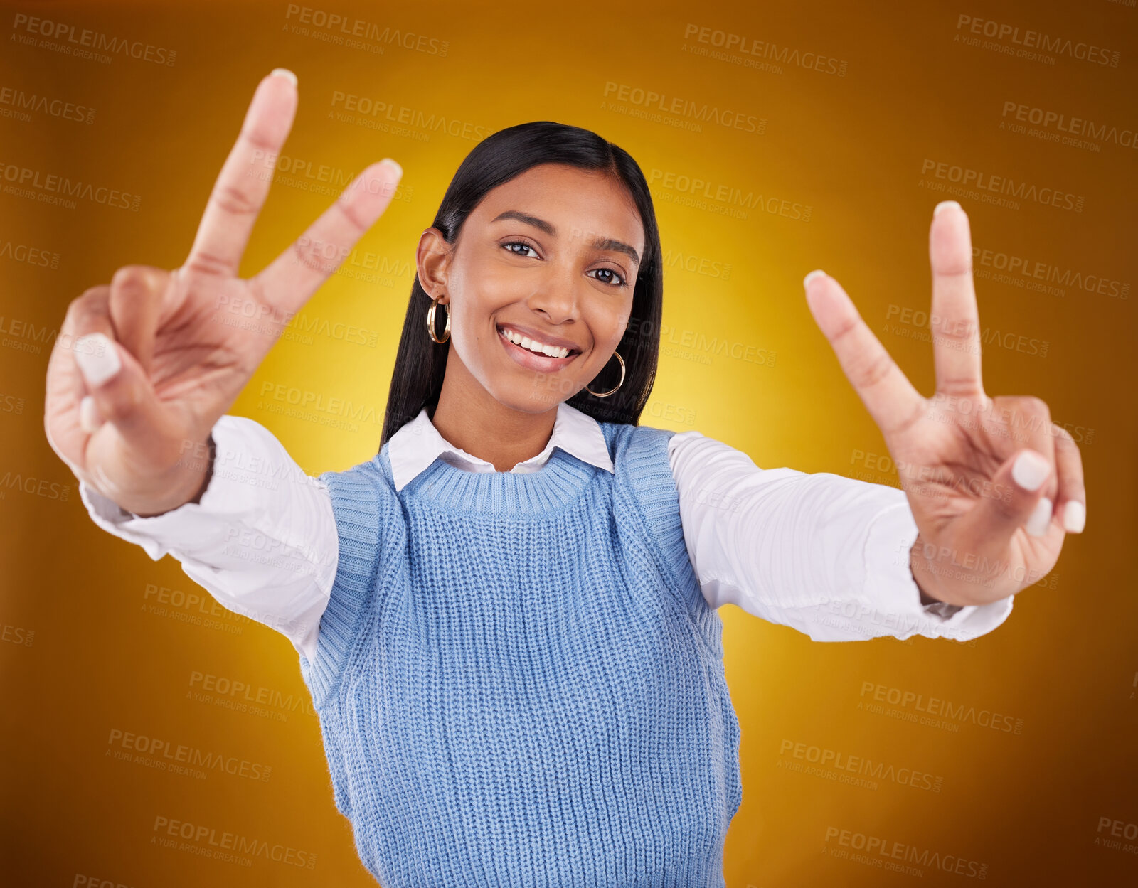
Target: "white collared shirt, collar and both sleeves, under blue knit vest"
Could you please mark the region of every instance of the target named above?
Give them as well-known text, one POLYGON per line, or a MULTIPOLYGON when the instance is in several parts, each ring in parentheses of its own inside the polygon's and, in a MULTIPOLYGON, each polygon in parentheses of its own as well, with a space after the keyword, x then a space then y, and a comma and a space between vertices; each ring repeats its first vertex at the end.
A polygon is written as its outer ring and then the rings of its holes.
MULTIPOLYGON (((100 528, 154 561, 173 555, 221 605, 283 633, 311 659, 339 557, 327 486, 254 420, 222 416, 213 437, 214 472, 199 503, 143 518, 83 482, 80 497, 100 528)), ((542 453, 510 471, 538 471, 554 447, 613 471, 600 424, 564 401, 542 453)), ((437 458, 496 471, 447 442, 426 408, 391 435, 388 456, 398 490, 437 458)), ((815 641, 913 634, 966 641, 1012 612, 1014 596, 959 609, 921 605, 909 570, 917 528, 898 488, 759 468, 698 431, 674 434, 668 459, 687 554, 711 607, 734 604, 815 641)))

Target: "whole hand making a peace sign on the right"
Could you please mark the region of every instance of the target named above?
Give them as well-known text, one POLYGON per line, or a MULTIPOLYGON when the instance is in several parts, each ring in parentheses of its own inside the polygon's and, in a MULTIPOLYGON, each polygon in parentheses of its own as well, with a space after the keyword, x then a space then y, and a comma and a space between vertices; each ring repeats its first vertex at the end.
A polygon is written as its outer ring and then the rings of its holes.
POLYGON ((983 605, 1038 582, 1065 534, 1082 531, 1082 460, 1042 400, 984 393, 972 239, 956 201, 937 206, 929 254, 932 398, 913 388, 838 281, 811 272, 806 297, 897 463, 920 531, 909 562, 917 586, 983 605))

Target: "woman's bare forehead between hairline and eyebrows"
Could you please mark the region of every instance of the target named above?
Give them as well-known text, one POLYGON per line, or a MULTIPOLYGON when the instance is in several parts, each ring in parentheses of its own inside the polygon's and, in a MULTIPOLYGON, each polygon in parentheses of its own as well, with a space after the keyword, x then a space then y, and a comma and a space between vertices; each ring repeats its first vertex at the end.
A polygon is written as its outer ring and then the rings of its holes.
POLYGON ((470 215, 486 224, 508 209, 552 223, 558 238, 601 234, 644 255, 644 226, 636 204, 620 182, 604 173, 538 164, 490 189, 470 215))

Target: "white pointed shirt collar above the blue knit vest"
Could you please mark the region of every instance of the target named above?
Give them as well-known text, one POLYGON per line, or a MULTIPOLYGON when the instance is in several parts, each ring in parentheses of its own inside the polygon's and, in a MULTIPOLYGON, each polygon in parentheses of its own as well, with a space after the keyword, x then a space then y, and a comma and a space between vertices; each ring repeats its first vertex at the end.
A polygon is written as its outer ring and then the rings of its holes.
MULTIPOLYGON (((578 459, 612 472, 612 458, 609 456, 608 442, 601 424, 587 413, 571 407, 564 401, 558 405, 556 418, 553 421, 553 433, 545 449, 537 456, 518 463, 511 472, 536 472, 553 455, 553 448, 560 447, 578 459)), ((435 428, 427 415, 427 408, 419 410, 414 420, 403 425, 388 439, 387 456, 391 462, 391 478, 395 489, 402 490, 410 484, 420 472, 436 459, 442 458, 460 468, 473 472, 494 472, 494 464, 465 450, 455 447, 435 428)))

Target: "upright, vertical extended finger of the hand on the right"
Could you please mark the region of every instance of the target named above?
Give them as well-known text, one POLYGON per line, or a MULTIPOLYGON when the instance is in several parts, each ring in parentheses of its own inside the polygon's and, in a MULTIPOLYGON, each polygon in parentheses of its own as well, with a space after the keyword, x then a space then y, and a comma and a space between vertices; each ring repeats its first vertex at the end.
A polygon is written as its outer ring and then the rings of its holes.
POLYGON ((929 230, 932 265, 932 312, 937 391, 980 395, 980 313, 972 281, 972 235, 968 216, 955 200, 933 210, 929 230))

